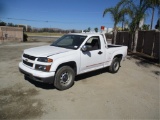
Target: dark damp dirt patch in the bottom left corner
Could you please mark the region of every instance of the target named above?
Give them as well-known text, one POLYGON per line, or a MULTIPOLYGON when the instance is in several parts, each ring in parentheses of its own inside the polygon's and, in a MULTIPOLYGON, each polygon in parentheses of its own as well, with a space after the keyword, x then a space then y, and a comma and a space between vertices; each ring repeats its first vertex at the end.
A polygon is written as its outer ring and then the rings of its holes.
POLYGON ((29 119, 43 114, 41 100, 35 89, 24 90, 21 85, 0 90, 0 119, 29 119))

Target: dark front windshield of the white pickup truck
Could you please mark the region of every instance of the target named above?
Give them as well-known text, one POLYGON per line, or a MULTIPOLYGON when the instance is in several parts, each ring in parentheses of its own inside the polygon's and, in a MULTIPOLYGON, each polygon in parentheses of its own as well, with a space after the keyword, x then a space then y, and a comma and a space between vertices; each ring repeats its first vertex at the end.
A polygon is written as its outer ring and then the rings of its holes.
POLYGON ((78 49, 87 36, 82 35, 64 35, 53 42, 51 46, 63 47, 69 49, 78 49))

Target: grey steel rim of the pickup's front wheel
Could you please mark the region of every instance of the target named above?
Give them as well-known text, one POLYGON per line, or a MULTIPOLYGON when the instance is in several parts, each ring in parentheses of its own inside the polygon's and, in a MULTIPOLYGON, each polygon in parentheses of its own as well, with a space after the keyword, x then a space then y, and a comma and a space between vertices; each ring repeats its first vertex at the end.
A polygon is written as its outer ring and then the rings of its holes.
POLYGON ((71 83, 72 75, 69 72, 63 72, 60 75, 60 83, 62 86, 67 86, 71 83))

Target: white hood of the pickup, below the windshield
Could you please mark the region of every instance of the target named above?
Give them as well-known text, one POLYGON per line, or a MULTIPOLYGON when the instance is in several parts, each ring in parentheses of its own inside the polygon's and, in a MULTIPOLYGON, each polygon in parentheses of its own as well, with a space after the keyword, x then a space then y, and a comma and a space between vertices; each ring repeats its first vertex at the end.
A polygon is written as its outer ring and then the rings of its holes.
POLYGON ((47 57, 50 55, 60 54, 69 51, 72 51, 72 49, 66 49, 55 46, 41 46, 26 49, 24 50, 24 53, 35 57, 47 57))

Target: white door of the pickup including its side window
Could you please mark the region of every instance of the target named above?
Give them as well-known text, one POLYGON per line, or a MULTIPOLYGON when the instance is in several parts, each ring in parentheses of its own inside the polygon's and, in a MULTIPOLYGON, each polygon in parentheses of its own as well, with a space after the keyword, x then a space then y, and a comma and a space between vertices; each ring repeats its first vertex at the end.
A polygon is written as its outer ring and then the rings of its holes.
POLYGON ((99 36, 93 36, 87 40, 85 45, 92 48, 85 52, 81 51, 80 73, 96 70, 104 66, 105 54, 101 44, 99 36))

